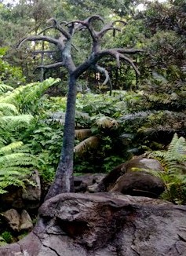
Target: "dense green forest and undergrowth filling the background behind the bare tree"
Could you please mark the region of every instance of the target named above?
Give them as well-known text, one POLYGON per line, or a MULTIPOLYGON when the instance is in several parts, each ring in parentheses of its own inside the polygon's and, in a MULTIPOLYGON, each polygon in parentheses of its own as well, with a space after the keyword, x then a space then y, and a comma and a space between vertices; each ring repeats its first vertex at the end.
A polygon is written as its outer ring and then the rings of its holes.
MULTIPOLYGON (((59 53, 47 43, 27 43, 23 49, 16 49, 17 42, 25 35, 41 32, 51 16, 68 21, 97 13, 106 19, 109 16, 112 20, 127 21, 127 25, 121 27, 122 33, 116 31, 117 37, 108 35, 105 48, 144 49, 140 56, 133 56, 140 77, 128 64, 117 68, 110 58, 101 60, 111 74, 111 95, 99 72, 87 71, 78 80, 75 174, 109 172, 133 155, 144 152, 170 152, 169 144, 175 133, 183 142, 186 137, 184 0, 163 4, 148 2, 141 12, 135 3, 110 1, 108 5, 104 1, 83 1, 82 5, 82 1, 49 1, 46 5, 42 0, 22 0, 16 5, 0 4, 0 192, 5 192, 11 184, 24 185, 25 174, 34 166, 46 182, 53 181, 57 170, 67 72, 63 68, 35 70, 38 64, 59 60, 59 53), (41 50, 46 53, 42 54, 41 50)), ((83 46, 83 51, 74 49, 78 64, 89 53, 88 34, 77 35, 74 45, 75 49, 83 46)), ((181 158, 173 159, 177 165, 184 163, 184 153, 185 148, 181 158)), ((153 157, 156 156, 162 162, 166 157, 163 153, 154 153, 153 157)), ((170 163, 171 159, 166 157, 168 169, 170 163)), ((170 168, 166 174, 170 174, 171 182, 166 181, 167 186, 173 181, 177 183, 181 188, 179 195, 173 187, 165 198, 185 203, 184 167, 180 180, 178 173, 170 168)))

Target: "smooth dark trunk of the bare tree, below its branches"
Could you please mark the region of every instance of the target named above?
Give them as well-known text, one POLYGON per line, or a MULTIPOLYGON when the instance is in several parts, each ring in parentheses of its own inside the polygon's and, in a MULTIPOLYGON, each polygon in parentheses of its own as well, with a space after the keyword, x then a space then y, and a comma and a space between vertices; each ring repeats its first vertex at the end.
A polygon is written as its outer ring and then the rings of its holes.
POLYGON ((75 142, 75 101, 76 80, 74 75, 70 75, 67 93, 67 110, 64 123, 63 147, 61 150, 60 162, 57 167, 55 181, 49 188, 46 199, 57 196, 63 192, 74 191, 73 154, 75 142))

